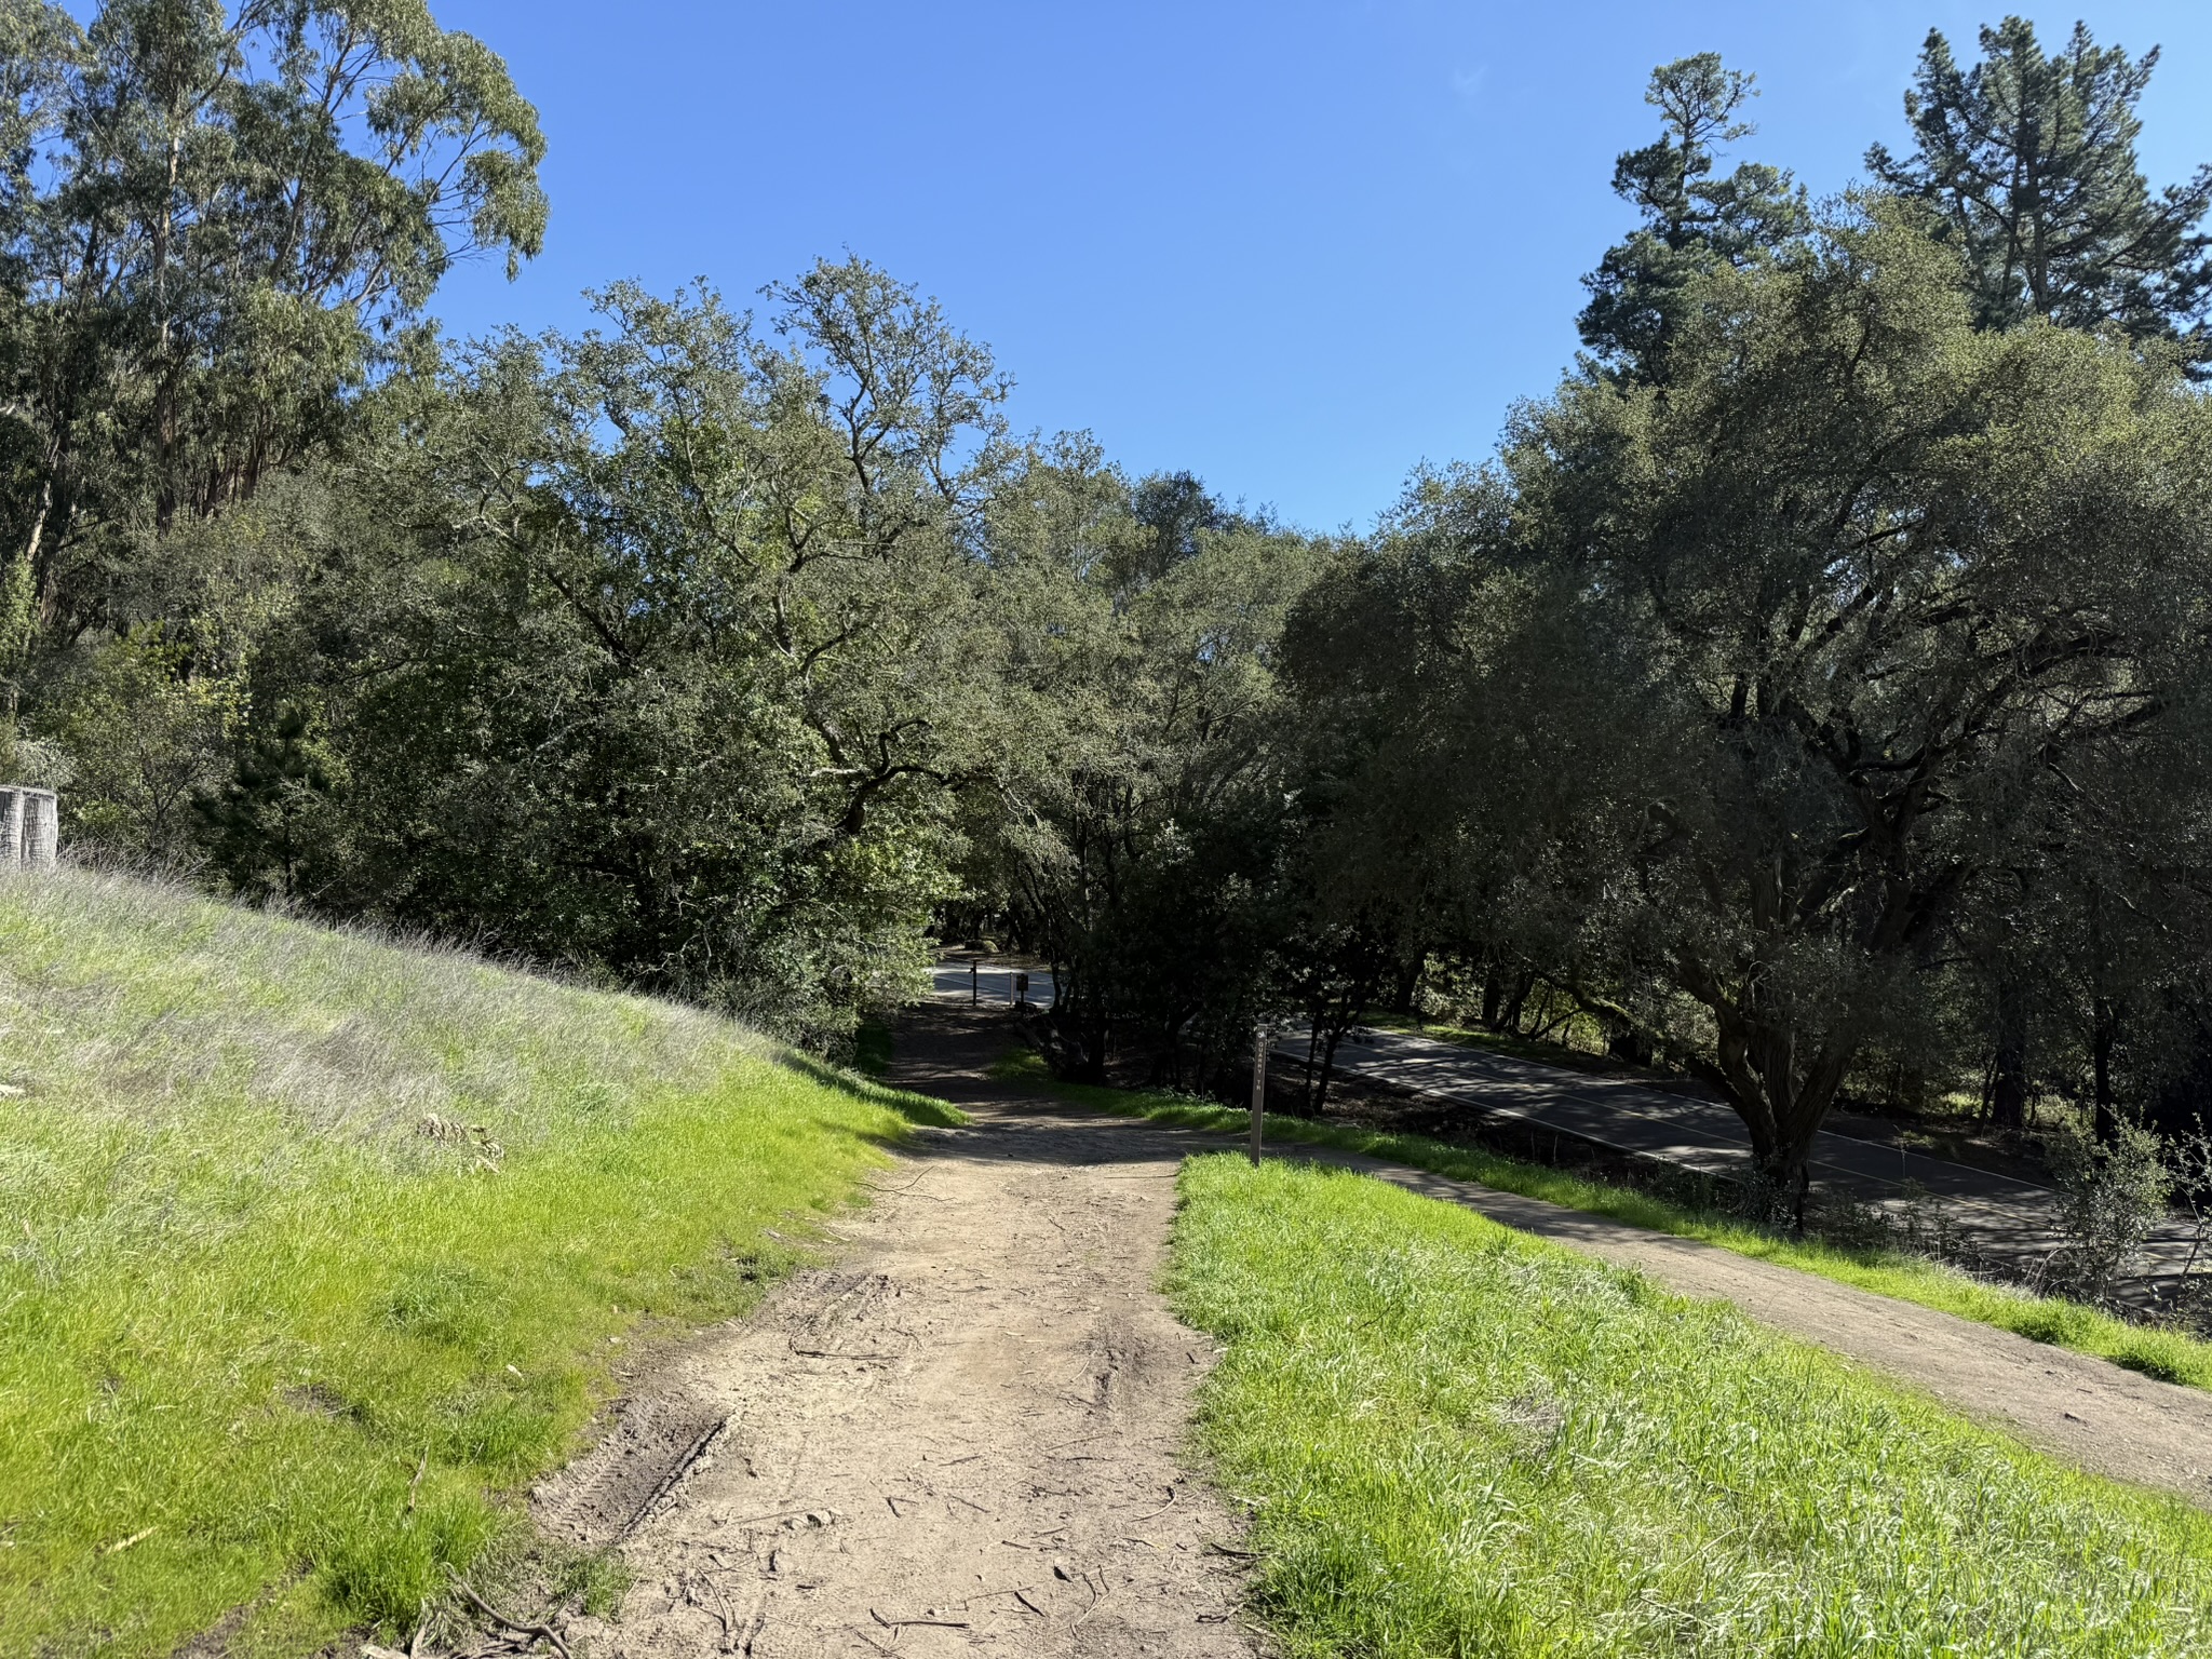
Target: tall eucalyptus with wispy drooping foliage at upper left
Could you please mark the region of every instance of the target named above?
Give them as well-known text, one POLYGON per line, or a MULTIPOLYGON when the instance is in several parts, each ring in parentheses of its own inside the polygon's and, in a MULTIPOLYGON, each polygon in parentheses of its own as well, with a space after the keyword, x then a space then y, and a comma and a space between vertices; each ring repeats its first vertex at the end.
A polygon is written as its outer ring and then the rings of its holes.
POLYGON ((128 626, 133 571, 325 440, 438 279, 538 252, 544 139, 422 0, 0 9, 0 633, 128 626))

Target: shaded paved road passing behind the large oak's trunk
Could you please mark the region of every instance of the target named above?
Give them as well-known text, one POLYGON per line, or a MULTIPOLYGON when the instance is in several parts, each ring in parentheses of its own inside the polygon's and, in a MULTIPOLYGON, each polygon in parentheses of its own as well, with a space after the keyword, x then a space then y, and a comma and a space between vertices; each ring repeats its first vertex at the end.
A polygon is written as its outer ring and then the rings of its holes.
MULTIPOLYGON (((1305 1064, 1303 1040, 1285 1042, 1274 1053, 1305 1064)), ((1705 1175, 1743 1175, 1752 1159, 1743 1119, 1717 1102, 1407 1031, 1365 1031, 1347 1040, 1336 1051, 1336 1068, 1360 1082, 1464 1106, 1480 1117, 1517 1119, 1705 1175)), ((1812 1175, 1825 1192, 1891 1212, 1902 1210, 1918 1188, 1973 1250, 2000 1261, 2026 1265, 2059 1243, 2057 1192, 1991 1170, 1823 1133, 1812 1148, 1812 1175)), ((2188 1248, 2179 1223, 2161 1228, 2146 1250, 2146 1272, 2152 1279, 2179 1272, 2188 1248)))

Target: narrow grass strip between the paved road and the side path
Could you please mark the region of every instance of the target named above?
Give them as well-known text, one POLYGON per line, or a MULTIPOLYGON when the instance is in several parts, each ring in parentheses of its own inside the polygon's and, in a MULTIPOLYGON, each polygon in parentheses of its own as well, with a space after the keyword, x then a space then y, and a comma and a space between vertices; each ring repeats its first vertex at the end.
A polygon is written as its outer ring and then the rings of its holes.
MULTIPOLYGON (((1097 1088, 1088 1084, 1064 1084, 1051 1077, 1044 1062, 1033 1053, 1009 1055, 1000 1062, 1000 1073, 1035 1082, 1064 1099, 1093 1106, 1124 1117, 1150 1117, 1186 1128, 1243 1135, 1250 1115, 1210 1106, 1188 1095, 1155 1095, 1126 1088, 1097 1088)), ((1343 1152, 1405 1164, 1418 1170, 1436 1170, 1458 1181, 1520 1192, 1522 1197, 1559 1203, 1568 1210, 1613 1217, 1635 1228, 1672 1232, 1681 1239, 1734 1250, 1739 1256, 1772 1261, 1778 1267, 1820 1274, 1843 1285, 1871 1290, 1878 1296, 1936 1307, 1978 1325, 1995 1325, 2035 1343, 2068 1347, 2077 1354, 2126 1365, 2130 1371, 2154 1376, 2163 1383, 2183 1383, 2197 1389, 2212 1389, 2212 1343, 2179 1329, 2159 1325, 2130 1325, 2099 1307, 2062 1301, 2057 1296, 2033 1296, 2011 1285, 1991 1285, 1922 1256, 1898 1250, 1847 1250, 1812 1239, 1781 1239, 1761 1232, 1734 1217, 1714 1210, 1690 1210, 1648 1192, 1637 1192, 1582 1175, 1568 1175, 1542 1164, 1484 1152, 1473 1146, 1451 1146, 1425 1135, 1391 1135, 1385 1130, 1352 1128, 1345 1124, 1323 1124, 1305 1117, 1270 1115, 1265 1124, 1270 1141, 1303 1141, 1307 1146, 1329 1146, 1343 1152)))

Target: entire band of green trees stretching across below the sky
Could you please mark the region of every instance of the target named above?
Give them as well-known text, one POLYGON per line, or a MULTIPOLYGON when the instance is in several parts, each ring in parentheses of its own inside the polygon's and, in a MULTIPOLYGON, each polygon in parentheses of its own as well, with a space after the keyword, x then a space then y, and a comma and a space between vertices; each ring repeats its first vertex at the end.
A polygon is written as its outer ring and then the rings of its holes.
POLYGON ((1929 35, 1832 201, 1661 66, 1584 354, 1316 538, 1013 431, 858 259, 440 338, 544 144, 422 0, 0 29, 4 759, 77 845, 832 1048, 982 933, 1071 1075, 1579 1020, 1781 1203, 1838 1102, 2212 1091, 2212 168, 2141 175, 2157 53, 1929 35))

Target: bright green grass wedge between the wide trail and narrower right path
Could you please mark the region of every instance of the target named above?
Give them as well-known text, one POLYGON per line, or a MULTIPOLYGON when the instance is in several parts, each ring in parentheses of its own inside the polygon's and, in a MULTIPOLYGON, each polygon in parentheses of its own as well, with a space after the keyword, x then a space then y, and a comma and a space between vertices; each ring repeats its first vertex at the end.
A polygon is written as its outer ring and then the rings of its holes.
POLYGON ((1217 1155, 1181 1197, 1199 1438, 1290 1659, 2212 1650, 2179 1500, 1360 1175, 1217 1155))

